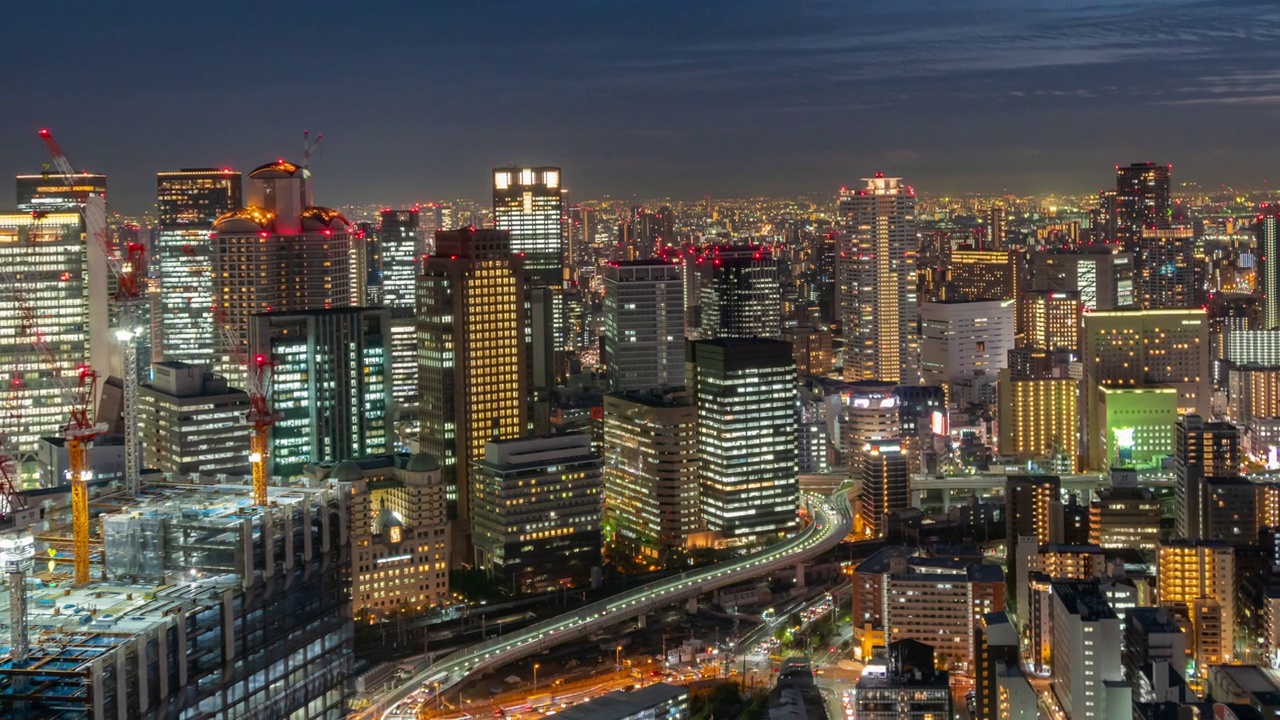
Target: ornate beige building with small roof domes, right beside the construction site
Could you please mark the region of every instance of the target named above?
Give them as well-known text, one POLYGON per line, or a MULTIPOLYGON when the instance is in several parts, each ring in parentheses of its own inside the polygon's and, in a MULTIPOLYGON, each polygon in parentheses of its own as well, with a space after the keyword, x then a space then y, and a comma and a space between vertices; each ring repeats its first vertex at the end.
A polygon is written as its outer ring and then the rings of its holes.
POLYGON ((425 452, 307 466, 312 487, 351 498, 351 612, 388 616, 451 603, 440 464, 425 452))

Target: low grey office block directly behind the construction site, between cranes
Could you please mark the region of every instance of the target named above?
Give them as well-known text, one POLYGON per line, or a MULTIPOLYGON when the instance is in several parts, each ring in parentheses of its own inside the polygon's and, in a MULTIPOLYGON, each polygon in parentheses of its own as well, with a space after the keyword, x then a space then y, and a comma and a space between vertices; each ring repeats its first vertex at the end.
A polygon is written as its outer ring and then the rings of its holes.
POLYGON ((142 466, 188 478, 248 475, 248 395, 204 365, 155 363, 138 388, 142 466))

